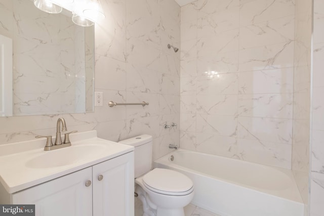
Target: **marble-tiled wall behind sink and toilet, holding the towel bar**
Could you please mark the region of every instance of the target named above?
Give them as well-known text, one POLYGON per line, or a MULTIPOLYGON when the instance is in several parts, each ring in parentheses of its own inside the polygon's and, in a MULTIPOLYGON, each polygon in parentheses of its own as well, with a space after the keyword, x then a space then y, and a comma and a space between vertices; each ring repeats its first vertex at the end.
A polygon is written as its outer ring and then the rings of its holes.
MULTIPOLYGON (((10 5, 11 0, 4 1, 10 5)), ((95 91, 103 92, 104 106, 86 114, 1 117, 0 144, 54 136, 59 117, 68 131, 96 129, 98 137, 112 141, 152 135, 154 159, 169 153, 170 143, 179 144, 179 126, 163 125, 180 122, 180 52, 167 48, 180 47, 180 7, 174 0, 101 4, 106 18, 95 26, 95 91), (149 106, 110 108, 108 101, 147 101, 149 106)))

